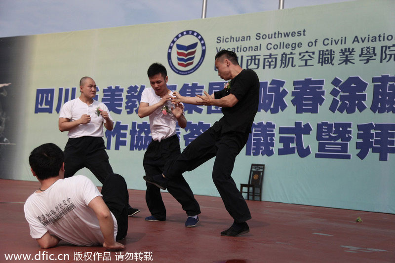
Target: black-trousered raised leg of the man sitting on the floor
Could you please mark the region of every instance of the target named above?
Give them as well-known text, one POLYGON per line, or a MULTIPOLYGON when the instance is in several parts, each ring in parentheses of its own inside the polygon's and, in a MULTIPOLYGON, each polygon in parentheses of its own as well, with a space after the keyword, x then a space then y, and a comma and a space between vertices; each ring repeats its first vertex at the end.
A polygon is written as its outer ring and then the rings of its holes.
POLYGON ((103 200, 117 219, 117 239, 122 239, 127 234, 127 207, 129 193, 125 179, 118 174, 109 174, 103 183, 103 200))

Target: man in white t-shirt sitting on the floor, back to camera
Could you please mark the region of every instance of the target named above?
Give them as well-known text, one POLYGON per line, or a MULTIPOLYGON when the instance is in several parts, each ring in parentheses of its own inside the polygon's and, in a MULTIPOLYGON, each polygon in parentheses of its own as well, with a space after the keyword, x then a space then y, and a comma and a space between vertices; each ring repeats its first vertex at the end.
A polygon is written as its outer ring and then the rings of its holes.
POLYGON ((107 176, 102 194, 85 176, 64 178, 64 153, 52 143, 34 149, 29 164, 41 186, 26 200, 24 211, 30 234, 41 248, 54 247, 60 240, 124 248, 116 241, 127 233, 129 196, 122 176, 107 176))

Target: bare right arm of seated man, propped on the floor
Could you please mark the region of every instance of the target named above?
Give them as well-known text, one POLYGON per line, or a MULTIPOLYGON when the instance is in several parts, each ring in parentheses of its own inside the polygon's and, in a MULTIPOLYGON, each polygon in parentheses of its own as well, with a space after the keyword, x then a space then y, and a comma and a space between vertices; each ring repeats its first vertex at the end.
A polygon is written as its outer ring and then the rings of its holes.
POLYGON ((88 206, 95 212, 99 220, 100 230, 104 237, 103 247, 111 249, 122 249, 124 245, 114 239, 114 220, 106 203, 101 196, 96 196, 89 202, 88 206))

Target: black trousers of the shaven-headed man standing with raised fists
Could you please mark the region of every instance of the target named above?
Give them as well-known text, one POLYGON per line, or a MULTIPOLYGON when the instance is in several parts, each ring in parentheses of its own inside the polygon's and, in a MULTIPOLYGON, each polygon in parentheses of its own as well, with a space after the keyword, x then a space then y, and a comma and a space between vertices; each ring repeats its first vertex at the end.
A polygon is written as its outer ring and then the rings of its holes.
POLYGON ((69 138, 64 154, 65 178, 86 167, 104 184, 107 175, 113 173, 102 137, 69 138))

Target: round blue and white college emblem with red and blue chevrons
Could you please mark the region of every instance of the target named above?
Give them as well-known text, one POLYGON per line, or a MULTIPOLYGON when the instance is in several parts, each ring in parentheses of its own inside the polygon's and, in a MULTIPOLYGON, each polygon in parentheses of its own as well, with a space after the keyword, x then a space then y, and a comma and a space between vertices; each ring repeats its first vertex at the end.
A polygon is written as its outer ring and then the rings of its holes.
POLYGON ((203 37, 193 30, 183 31, 173 38, 167 51, 170 68, 179 75, 195 72, 206 55, 203 37))

